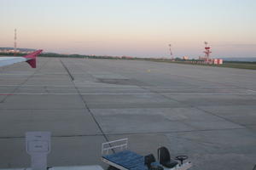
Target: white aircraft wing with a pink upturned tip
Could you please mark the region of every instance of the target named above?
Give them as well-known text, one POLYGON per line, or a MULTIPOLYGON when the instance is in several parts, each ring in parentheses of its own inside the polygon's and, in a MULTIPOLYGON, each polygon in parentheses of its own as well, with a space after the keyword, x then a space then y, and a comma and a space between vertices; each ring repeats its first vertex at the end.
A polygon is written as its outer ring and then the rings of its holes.
POLYGON ((35 51, 31 54, 27 54, 23 57, 0 57, 0 66, 13 65, 26 61, 32 68, 37 67, 37 55, 42 53, 42 49, 35 51))

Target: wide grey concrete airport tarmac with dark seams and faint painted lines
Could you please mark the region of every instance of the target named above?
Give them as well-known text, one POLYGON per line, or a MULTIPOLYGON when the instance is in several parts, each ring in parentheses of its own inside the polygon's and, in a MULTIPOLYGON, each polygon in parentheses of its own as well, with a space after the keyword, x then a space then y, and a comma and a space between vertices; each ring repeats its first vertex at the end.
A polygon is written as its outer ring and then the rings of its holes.
POLYGON ((256 164, 256 71, 137 60, 39 58, 0 68, 0 168, 29 167, 27 131, 50 131, 49 167, 99 164, 102 142, 165 145, 192 170, 256 164))

